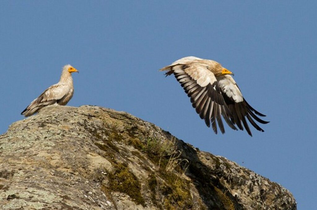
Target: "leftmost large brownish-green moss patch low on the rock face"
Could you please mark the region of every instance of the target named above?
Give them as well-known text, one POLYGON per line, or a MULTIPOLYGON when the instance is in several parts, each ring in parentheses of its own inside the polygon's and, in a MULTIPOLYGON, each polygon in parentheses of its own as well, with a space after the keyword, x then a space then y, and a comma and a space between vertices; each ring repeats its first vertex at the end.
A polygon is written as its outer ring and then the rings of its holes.
POLYGON ((137 177, 129 171, 125 164, 114 164, 114 171, 108 173, 109 188, 129 195, 136 204, 145 206, 145 200, 141 195, 141 184, 137 177))

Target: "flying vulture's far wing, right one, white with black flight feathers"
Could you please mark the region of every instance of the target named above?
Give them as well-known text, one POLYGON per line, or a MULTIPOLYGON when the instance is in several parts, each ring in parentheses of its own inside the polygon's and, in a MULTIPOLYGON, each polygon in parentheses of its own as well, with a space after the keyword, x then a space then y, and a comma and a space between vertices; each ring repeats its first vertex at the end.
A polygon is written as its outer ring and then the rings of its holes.
POLYGON ((228 106, 228 113, 231 122, 236 124, 240 130, 243 130, 244 126, 249 135, 252 136, 249 125, 245 119, 247 118, 253 127, 255 127, 258 131, 264 132, 264 130, 259 127, 254 120, 258 121, 259 123, 266 124, 268 121, 261 120, 256 116, 256 114, 262 117, 265 115, 256 111, 248 104, 248 102, 245 101, 234 79, 230 75, 224 75, 217 77, 217 81, 223 99, 228 106))

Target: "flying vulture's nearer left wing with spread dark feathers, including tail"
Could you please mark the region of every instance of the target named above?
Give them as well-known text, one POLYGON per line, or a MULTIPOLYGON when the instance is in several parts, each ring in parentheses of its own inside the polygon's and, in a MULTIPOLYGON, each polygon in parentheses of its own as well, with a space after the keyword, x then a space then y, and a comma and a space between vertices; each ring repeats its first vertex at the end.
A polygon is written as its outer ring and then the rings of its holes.
POLYGON ((231 114, 228 112, 230 110, 226 106, 217 79, 206 65, 193 62, 184 62, 184 64, 174 62, 160 71, 168 71, 166 75, 174 74, 191 98, 192 106, 196 109, 197 114, 205 120, 208 127, 210 127, 211 122, 215 133, 217 133, 217 123, 220 131, 224 133, 221 115, 232 129, 237 130, 229 119, 231 114))

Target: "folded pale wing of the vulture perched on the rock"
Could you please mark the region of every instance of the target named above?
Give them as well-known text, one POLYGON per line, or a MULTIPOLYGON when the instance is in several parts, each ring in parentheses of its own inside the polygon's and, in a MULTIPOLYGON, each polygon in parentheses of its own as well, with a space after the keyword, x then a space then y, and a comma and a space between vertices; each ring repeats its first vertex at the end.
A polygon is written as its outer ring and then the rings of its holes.
POLYGON ((23 110, 21 114, 24 116, 30 116, 36 113, 39 109, 44 106, 58 103, 66 97, 68 93, 68 86, 63 83, 57 83, 46 89, 40 96, 34 99, 31 104, 23 110))

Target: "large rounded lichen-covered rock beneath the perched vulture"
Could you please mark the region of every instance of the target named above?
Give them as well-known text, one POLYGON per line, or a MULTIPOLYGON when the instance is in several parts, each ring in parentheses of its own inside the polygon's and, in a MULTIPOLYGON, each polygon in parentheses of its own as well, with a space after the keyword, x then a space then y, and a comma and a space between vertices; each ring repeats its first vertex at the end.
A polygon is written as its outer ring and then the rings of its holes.
POLYGON ((0 209, 296 209, 275 182, 125 112, 50 106, 0 136, 0 209))

